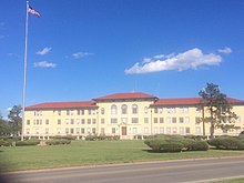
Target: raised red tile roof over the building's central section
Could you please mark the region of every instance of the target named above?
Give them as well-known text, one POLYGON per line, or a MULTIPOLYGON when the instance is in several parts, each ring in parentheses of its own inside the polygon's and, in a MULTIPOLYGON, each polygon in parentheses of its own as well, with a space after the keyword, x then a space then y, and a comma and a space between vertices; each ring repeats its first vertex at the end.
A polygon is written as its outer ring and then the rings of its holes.
POLYGON ((93 99, 94 101, 104 101, 104 100, 122 100, 122 99, 157 99, 156 96, 141 93, 141 92, 132 92, 132 93, 115 93, 110 95, 104 95, 101 98, 93 99))

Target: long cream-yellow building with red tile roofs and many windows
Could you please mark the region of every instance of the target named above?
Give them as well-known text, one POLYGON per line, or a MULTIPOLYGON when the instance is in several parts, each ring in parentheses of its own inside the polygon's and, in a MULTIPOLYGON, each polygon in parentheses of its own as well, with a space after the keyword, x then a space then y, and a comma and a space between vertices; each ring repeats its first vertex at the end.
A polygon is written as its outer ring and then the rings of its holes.
MULTIPOLYGON (((133 92, 115 93, 88 102, 47 102, 26 108, 24 136, 119 135, 133 139, 151 134, 210 135, 210 125, 197 123, 200 98, 159 99, 133 92), (205 130, 203 130, 205 129, 205 130)), ((244 131, 244 101, 228 98, 237 114, 235 130, 215 135, 237 135, 244 131)), ((205 112, 207 115, 207 112, 205 112)))

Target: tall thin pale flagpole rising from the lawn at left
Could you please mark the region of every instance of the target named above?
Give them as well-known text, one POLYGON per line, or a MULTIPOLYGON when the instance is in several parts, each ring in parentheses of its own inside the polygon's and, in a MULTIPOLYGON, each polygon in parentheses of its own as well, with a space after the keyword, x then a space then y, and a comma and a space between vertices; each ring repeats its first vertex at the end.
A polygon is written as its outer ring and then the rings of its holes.
POLYGON ((26 34, 24 34, 24 63, 23 63, 23 92, 22 92, 22 129, 21 141, 24 138, 24 110, 26 110, 26 90, 27 90, 27 43, 28 43, 28 17, 29 17, 29 1, 27 1, 27 14, 26 14, 26 34))

